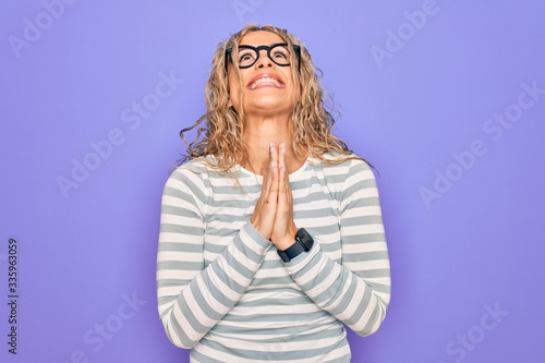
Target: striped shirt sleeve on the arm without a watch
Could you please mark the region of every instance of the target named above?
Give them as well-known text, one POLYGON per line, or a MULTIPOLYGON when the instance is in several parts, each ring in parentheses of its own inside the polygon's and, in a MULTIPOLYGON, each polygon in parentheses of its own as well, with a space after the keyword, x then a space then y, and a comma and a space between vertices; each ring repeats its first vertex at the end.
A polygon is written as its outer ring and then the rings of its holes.
POLYGON ((207 266, 204 231, 205 174, 177 169, 161 201, 157 299, 171 342, 193 348, 237 304, 259 268, 270 242, 247 222, 207 266))

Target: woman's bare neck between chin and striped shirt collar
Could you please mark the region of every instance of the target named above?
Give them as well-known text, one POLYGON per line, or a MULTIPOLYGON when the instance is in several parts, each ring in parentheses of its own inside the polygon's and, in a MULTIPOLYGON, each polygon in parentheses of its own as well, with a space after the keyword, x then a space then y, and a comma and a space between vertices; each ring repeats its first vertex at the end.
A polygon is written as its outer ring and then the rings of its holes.
POLYGON ((256 174, 264 176, 270 168, 269 143, 286 144, 286 166, 291 173, 299 169, 304 158, 298 158, 293 149, 291 120, 280 118, 246 118, 244 122, 244 142, 247 159, 241 164, 256 174))

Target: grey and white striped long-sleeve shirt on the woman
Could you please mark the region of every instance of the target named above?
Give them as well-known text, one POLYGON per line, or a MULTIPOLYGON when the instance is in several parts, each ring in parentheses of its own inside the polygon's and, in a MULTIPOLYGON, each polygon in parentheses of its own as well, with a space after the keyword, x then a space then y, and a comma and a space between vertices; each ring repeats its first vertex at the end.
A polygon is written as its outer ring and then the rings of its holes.
POLYGON ((315 241, 289 263, 250 223, 263 177, 232 172, 238 181, 194 159, 166 183, 157 294, 168 338, 191 362, 350 362, 344 325, 375 332, 390 300, 373 171, 308 158, 289 176, 293 219, 315 241))

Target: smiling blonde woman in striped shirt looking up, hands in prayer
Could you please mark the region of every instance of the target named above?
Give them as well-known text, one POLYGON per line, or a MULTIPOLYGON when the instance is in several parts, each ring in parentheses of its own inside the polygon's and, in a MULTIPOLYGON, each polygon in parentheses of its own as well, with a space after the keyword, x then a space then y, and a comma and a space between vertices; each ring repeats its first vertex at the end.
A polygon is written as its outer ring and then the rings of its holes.
POLYGON ((216 50, 206 101, 162 197, 169 339, 192 362, 350 362, 343 324, 377 330, 389 261, 373 172, 331 134, 311 56, 247 26, 216 50))

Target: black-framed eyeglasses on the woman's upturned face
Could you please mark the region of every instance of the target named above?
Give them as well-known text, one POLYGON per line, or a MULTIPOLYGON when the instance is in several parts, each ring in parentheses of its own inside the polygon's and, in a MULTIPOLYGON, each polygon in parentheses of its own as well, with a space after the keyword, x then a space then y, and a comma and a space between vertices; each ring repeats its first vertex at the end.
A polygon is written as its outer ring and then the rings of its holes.
MULTIPOLYGON (((259 59, 259 52, 262 50, 267 51, 267 57, 277 65, 288 66, 290 63, 290 50, 287 43, 278 43, 270 46, 239 46, 239 68, 245 69, 251 68, 259 59)), ((301 48, 293 45, 293 50, 298 58, 298 69, 301 68, 301 48)), ((228 68, 228 61, 232 62, 232 48, 226 49, 226 71, 228 68)))

